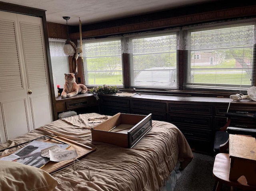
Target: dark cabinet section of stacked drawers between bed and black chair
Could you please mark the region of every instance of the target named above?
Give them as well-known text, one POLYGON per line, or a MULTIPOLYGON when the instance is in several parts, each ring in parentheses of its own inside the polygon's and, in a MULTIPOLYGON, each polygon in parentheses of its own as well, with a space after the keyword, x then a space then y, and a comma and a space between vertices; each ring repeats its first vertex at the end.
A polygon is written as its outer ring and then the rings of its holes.
POLYGON ((184 134, 192 150, 210 155, 213 153, 212 110, 212 106, 195 103, 168 104, 169 122, 184 134))

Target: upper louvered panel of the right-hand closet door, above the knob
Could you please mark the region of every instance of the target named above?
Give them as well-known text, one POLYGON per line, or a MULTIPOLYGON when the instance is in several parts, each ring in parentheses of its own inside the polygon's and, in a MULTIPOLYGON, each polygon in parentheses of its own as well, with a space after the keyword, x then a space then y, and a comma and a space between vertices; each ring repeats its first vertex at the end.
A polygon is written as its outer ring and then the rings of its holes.
POLYGON ((28 88, 46 86, 46 64, 41 25, 20 22, 20 28, 26 60, 28 88))

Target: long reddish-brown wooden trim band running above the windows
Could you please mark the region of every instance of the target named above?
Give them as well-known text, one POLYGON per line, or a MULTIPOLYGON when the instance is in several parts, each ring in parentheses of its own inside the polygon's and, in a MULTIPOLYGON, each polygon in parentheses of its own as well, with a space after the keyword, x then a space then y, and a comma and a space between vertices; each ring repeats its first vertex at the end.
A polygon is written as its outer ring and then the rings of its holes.
MULTIPOLYGON (((205 10, 205 9, 203 9, 205 10)), ((200 10, 201 11, 201 10, 200 10)), ((208 12, 200 12, 194 14, 184 14, 182 16, 170 16, 164 19, 156 19, 149 21, 140 21, 138 23, 99 28, 96 30, 82 31, 82 37, 97 37, 104 35, 116 35, 129 32, 142 32, 146 30, 159 30, 170 27, 179 27, 184 25, 199 24, 202 22, 213 22, 217 20, 240 18, 245 16, 256 16, 256 5, 228 8, 222 10, 213 10, 208 12)), ((106 22, 107 23, 107 22, 106 22)), ((108 26, 102 24, 102 26, 108 26)), ((82 26, 86 28, 86 26, 82 26)), ((70 39, 79 39, 79 32, 70 33, 70 39)))

